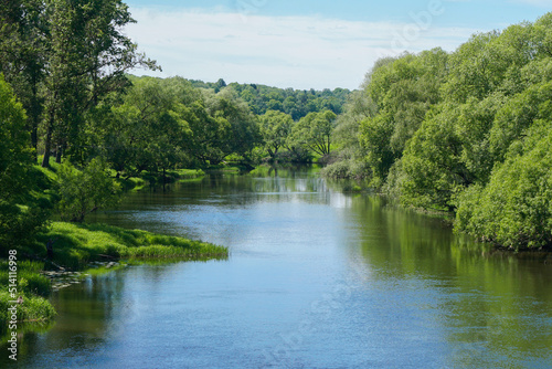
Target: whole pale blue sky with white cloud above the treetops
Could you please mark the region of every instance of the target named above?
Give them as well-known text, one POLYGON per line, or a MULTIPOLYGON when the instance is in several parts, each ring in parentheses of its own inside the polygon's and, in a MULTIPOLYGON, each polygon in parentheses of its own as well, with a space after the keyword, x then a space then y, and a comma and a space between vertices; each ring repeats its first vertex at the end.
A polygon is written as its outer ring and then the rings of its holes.
POLYGON ((383 56, 455 51, 477 32, 534 22, 552 0, 127 0, 125 33, 162 72, 280 88, 359 88, 383 56))

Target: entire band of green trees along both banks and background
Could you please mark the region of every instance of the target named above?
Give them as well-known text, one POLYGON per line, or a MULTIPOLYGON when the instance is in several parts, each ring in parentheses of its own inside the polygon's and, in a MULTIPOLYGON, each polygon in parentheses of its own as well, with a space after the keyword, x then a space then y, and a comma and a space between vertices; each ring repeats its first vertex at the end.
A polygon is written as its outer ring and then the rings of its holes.
POLYGON ((479 239, 552 244, 552 13, 379 60, 354 92, 129 75, 160 66, 124 34, 120 0, 7 1, 0 22, 3 244, 145 173, 315 160, 479 239))

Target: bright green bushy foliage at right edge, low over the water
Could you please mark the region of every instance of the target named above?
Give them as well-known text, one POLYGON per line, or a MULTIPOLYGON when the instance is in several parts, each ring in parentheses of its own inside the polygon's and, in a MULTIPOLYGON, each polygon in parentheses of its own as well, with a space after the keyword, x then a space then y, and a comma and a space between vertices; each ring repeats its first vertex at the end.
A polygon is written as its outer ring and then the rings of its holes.
POLYGON ((459 196, 456 229, 497 244, 552 246, 552 122, 539 122, 509 149, 486 187, 459 196))

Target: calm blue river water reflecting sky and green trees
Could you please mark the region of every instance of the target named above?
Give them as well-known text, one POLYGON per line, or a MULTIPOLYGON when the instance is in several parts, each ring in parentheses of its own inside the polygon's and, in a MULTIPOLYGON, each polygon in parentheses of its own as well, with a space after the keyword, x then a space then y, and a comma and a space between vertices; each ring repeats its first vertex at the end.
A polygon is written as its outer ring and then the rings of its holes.
POLYGON ((128 197, 91 221, 230 259, 61 289, 55 325, 21 338, 19 367, 552 368, 552 263, 342 189, 279 170, 128 197))

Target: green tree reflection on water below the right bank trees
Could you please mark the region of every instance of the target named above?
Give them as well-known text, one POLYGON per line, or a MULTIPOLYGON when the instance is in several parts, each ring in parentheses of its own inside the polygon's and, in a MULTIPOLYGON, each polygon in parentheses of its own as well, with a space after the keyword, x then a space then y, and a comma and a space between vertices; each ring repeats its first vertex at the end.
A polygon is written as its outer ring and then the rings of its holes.
POLYGON ((429 314, 449 347, 447 365, 509 367, 550 351, 552 275, 542 257, 491 252, 438 218, 386 207, 379 197, 354 198, 349 211, 349 253, 371 271, 365 283, 394 281, 391 288, 410 296, 397 309, 408 304, 429 314))

